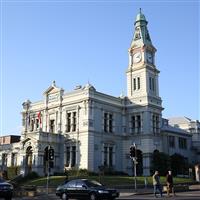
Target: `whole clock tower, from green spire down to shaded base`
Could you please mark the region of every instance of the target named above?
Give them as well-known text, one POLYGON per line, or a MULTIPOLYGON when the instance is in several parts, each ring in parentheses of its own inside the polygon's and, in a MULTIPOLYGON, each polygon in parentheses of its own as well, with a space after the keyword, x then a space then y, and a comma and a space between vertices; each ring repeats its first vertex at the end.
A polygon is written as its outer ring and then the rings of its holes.
MULTIPOLYGON (((141 12, 136 16, 134 35, 128 49, 127 75, 128 124, 131 143, 142 152, 143 175, 150 175, 151 156, 162 150, 162 100, 159 97, 159 70, 155 64, 147 20, 141 12)), ((141 168, 141 167, 140 167, 141 168)))

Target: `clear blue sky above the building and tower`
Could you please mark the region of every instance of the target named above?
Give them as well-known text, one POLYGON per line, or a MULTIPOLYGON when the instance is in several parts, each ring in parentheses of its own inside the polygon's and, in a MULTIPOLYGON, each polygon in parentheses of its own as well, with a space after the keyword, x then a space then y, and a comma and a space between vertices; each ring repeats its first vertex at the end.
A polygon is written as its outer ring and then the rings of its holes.
POLYGON ((157 48, 163 117, 200 119, 198 1, 1 0, 2 135, 20 134, 22 103, 55 80, 126 94, 128 48, 139 8, 157 48))

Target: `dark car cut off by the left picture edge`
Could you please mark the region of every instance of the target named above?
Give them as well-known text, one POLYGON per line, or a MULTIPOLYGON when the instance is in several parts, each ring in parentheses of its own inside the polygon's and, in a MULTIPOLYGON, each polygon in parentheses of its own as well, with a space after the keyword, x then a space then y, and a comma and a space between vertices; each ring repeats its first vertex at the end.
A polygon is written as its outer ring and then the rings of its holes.
POLYGON ((0 178, 0 198, 11 200, 13 195, 13 186, 0 178))

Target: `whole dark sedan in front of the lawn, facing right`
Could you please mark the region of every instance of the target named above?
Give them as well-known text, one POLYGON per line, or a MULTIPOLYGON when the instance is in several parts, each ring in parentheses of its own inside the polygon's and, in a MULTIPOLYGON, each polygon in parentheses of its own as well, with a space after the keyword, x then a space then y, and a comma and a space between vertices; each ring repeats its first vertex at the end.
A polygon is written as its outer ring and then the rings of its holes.
POLYGON ((108 189, 97 181, 75 179, 58 186, 56 189, 56 195, 63 200, 113 200, 119 196, 119 192, 117 192, 115 189, 108 189))

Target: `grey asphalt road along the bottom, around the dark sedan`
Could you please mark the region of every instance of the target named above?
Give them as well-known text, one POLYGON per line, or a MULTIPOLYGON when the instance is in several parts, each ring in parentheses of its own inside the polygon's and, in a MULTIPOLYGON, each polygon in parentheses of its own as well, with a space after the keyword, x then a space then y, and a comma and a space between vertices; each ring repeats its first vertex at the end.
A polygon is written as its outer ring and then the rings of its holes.
MULTIPOLYGON (((175 197, 167 197, 166 194, 162 198, 158 197, 155 198, 153 194, 146 194, 146 195, 129 195, 126 197, 119 197, 118 200, 200 200, 200 191, 189 191, 189 192, 179 192, 176 194, 175 197)), ((116 200, 117 200, 116 199, 116 200)), ((23 198, 13 198, 13 200, 59 200, 55 194, 41 195, 37 197, 23 197, 23 198)))

